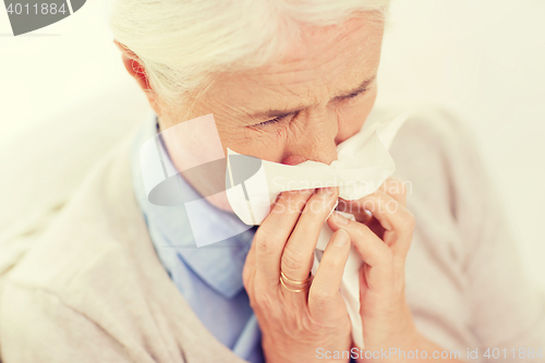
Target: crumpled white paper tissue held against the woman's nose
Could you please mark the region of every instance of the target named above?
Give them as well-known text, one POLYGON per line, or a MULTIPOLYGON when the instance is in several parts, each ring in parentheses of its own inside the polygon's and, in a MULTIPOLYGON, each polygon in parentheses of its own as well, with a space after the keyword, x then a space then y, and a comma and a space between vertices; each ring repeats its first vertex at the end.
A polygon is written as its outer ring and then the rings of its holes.
MULTIPOLYGON (((338 160, 329 166, 316 161, 287 166, 242 156, 228 148, 226 192, 229 204, 244 223, 261 225, 277 195, 283 191, 338 186, 339 196, 347 201, 372 194, 396 170, 388 149, 408 117, 405 112, 386 120, 365 122, 358 134, 337 146, 338 160)), ((343 215, 354 220, 353 215, 343 215)), ((314 254, 313 275, 331 235, 332 231, 325 223, 314 254)), ((352 246, 340 289, 352 323, 352 339, 361 349, 364 348, 359 281, 362 264, 352 246)))

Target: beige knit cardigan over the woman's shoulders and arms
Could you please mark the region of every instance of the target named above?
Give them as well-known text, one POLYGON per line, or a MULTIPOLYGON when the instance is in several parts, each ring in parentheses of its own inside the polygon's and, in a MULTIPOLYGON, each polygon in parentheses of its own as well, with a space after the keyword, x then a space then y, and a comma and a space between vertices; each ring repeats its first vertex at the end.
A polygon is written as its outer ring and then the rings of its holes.
MULTIPOLYGON (((132 140, 93 169, 7 275, 4 363, 243 362, 157 258, 133 195, 132 140)), ((415 113, 391 153, 396 177, 411 182, 407 299, 420 331, 462 358, 479 348, 480 361, 487 347, 545 348, 543 294, 524 279, 468 133, 441 112, 415 113)))

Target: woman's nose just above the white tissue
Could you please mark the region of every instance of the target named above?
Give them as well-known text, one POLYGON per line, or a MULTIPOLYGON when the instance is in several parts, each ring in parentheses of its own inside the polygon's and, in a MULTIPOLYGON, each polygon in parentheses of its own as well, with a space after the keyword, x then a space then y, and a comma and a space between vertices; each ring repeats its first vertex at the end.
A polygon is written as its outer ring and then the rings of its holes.
POLYGON ((282 164, 298 165, 306 160, 331 164, 337 160, 338 118, 334 110, 313 109, 298 114, 286 144, 282 164))

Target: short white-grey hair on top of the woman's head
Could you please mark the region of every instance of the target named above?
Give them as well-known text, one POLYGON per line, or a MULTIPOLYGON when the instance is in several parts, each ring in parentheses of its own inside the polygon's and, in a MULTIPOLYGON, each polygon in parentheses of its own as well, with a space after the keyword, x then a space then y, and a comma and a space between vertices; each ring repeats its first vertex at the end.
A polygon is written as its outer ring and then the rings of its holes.
POLYGON ((116 40, 142 61, 152 87, 177 104, 226 70, 264 65, 301 24, 384 20, 390 0, 113 0, 116 40))

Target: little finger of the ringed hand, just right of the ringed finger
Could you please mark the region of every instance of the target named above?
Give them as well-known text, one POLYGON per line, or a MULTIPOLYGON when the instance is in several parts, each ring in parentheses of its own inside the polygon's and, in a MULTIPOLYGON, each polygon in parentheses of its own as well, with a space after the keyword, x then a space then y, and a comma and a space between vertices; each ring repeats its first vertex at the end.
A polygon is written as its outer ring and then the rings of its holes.
POLYGON ((350 253, 350 235, 337 230, 324 251, 308 292, 308 310, 315 317, 330 316, 344 302, 339 293, 350 253))

